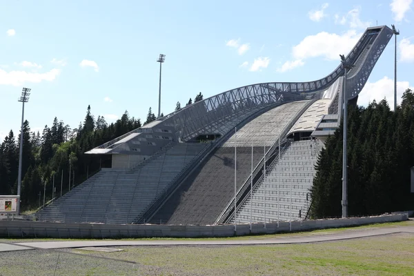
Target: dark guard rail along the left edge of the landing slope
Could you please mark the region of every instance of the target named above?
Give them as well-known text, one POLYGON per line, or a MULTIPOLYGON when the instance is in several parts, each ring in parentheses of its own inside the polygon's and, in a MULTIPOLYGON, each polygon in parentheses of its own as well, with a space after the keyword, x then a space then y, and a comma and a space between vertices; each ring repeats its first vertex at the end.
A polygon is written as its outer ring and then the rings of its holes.
MULTIPOLYGON (((290 101, 286 101, 283 103, 288 103, 290 101)), ((247 117, 246 119, 244 119, 244 121, 242 121, 240 124, 237 125, 237 128, 240 128, 244 125, 246 125, 249 121, 251 121, 252 119, 254 119, 255 117, 262 115, 264 112, 267 112, 270 109, 273 109, 277 106, 282 105, 283 103, 273 103, 270 104, 269 106, 267 106, 266 108, 262 108, 261 110, 257 110, 257 112, 253 113, 252 115, 250 115, 249 117, 247 117)), ((216 148, 219 148, 222 144, 224 144, 225 141, 227 141, 231 135, 233 135, 233 131, 230 130, 226 133, 226 135, 220 137, 219 139, 217 139, 216 141, 212 142, 209 147, 204 148, 204 150, 202 150, 199 155, 197 155, 197 157, 195 158, 195 160, 190 164, 190 166, 188 166, 188 168, 186 170, 184 170, 184 172, 182 172, 179 177, 177 178, 177 180, 157 199, 157 201, 155 201, 154 204, 152 204, 152 206, 150 206, 150 208, 148 208, 148 210, 146 210, 146 212, 144 213, 144 215, 142 215, 141 217, 137 217, 137 219, 135 220, 136 224, 144 224, 145 221, 150 221, 150 219, 152 219, 152 217, 157 213, 157 211, 164 206, 164 203, 170 198, 170 196, 175 193, 175 190, 177 190, 177 188, 179 188, 179 186, 181 186, 181 184, 187 179, 187 177, 189 177, 193 171, 199 166, 199 164, 201 164, 204 159, 208 156, 210 156, 210 153, 213 152, 213 150, 215 150, 216 148), (207 152, 208 151, 208 152, 207 152)))

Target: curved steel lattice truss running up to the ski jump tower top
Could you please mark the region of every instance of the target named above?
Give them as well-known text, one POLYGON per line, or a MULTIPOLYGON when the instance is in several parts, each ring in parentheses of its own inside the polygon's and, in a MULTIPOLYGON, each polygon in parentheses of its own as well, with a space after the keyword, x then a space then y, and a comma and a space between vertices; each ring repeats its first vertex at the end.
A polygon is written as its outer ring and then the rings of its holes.
MULTIPOLYGON (((387 26, 368 28, 348 54, 346 62, 355 65, 355 68, 348 75, 349 99, 357 97, 361 92, 392 35, 392 30, 387 26)), ((339 64, 330 75, 317 81, 258 83, 235 88, 181 108, 181 110, 157 120, 155 124, 150 123, 148 126, 133 130, 96 149, 112 148, 112 144, 134 132, 156 133, 162 128, 172 129, 172 137, 178 141, 188 141, 201 134, 224 135, 244 119, 263 108, 287 101, 320 97, 324 90, 343 75, 344 68, 342 64, 339 64)), ((88 153, 102 152, 91 150, 88 153)), ((109 154, 110 152, 105 153, 109 154)))

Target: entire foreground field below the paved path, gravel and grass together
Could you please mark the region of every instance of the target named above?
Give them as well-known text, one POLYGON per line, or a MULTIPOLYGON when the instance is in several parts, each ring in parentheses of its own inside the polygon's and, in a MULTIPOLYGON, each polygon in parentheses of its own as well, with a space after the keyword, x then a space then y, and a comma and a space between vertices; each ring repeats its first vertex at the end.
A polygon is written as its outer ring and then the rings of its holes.
POLYGON ((124 251, 0 253, 0 275, 53 275, 56 264, 56 275, 414 275, 414 235, 408 234, 316 244, 117 248, 124 251))

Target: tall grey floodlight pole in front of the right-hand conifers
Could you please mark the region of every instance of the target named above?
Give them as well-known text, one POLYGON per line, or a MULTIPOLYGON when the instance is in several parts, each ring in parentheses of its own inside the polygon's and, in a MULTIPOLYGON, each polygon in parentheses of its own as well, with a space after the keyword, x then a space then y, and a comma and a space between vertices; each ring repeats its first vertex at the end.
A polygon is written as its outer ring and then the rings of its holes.
POLYGON ((353 68, 354 65, 345 60, 344 55, 341 57, 342 66, 344 67, 344 89, 342 90, 342 99, 344 99, 344 142, 342 144, 342 217, 348 217, 348 160, 346 158, 346 137, 348 125, 348 92, 346 91, 346 72, 353 68))

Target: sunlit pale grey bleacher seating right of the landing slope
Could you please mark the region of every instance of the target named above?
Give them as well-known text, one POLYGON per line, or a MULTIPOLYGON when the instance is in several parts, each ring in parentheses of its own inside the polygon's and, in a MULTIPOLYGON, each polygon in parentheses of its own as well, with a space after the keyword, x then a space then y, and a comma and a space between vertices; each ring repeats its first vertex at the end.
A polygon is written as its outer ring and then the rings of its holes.
POLYGON ((236 221, 250 221, 250 204, 253 222, 265 221, 265 209, 266 222, 303 219, 310 203, 309 190, 320 148, 321 143, 315 139, 293 141, 282 152, 280 161, 266 170, 266 181, 262 180, 253 190, 253 201, 249 195, 237 210, 236 221))

